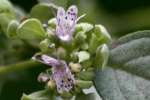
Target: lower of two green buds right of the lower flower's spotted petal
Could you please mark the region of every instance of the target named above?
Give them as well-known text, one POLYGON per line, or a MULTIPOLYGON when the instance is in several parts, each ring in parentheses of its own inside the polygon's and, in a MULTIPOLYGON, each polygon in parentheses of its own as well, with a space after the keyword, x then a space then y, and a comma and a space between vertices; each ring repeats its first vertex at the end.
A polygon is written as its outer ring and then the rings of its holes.
POLYGON ((92 81, 76 80, 76 85, 82 89, 90 88, 93 85, 92 81))

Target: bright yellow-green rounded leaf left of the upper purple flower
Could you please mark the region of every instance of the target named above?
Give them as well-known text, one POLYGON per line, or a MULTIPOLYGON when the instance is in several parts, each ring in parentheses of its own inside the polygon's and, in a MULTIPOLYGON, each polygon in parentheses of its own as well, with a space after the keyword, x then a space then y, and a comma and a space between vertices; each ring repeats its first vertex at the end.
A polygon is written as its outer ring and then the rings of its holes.
POLYGON ((21 39, 43 39, 46 33, 41 22, 37 19, 28 19, 21 23, 17 29, 17 35, 21 39))

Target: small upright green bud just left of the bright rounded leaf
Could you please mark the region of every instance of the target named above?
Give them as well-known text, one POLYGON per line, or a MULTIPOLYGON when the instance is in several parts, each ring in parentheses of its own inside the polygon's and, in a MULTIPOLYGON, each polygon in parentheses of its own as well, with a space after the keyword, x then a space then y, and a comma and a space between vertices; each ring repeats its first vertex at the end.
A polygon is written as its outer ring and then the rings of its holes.
POLYGON ((12 20, 7 27, 7 36, 10 38, 16 37, 17 36, 17 28, 19 26, 19 22, 17 22, 16 20, 12 20))

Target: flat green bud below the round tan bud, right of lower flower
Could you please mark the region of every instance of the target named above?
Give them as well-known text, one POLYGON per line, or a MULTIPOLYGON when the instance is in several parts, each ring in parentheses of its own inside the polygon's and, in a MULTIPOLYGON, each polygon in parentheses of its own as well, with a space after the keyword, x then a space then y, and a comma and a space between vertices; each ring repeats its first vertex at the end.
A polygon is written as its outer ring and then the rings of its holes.
POLYGON ((85 81, 91 81, 94 78, 94 72, 93 71, 83 71, 76 74, 76 76, 82 80, 85 81))

